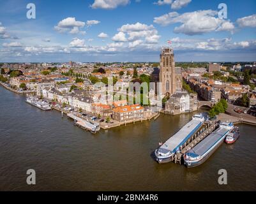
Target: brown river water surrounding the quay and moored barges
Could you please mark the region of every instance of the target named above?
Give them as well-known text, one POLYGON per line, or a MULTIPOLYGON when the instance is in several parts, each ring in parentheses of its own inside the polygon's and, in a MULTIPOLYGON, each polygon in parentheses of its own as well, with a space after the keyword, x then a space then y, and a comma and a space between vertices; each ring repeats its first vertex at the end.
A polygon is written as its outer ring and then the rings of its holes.
POLYGON ((93 135, 61 113, 43 112, 27 104, 25 96, 0 87, 0 190, 255 191, 254 126, 239 126, 239 140, 223 143, 201 166, 154 161, 158 142, 191 117, 162 115, 93 135), (36 171, 34 186, 26 183, 28 169, 36 171), (227 170, 227 185, 218 184, 220 169, 227 170))

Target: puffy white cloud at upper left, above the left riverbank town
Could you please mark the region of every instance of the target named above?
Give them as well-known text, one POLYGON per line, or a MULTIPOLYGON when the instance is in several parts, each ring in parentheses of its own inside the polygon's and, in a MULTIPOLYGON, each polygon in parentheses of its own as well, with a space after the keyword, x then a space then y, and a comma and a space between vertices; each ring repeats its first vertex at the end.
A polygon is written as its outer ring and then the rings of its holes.
POLYGON ((86 25, 85 22, 75 20, 75 17, 68 17, 61 20, 54 29, 59 33, 85 34, 85 31, 80 31, 84 25, 86 25))

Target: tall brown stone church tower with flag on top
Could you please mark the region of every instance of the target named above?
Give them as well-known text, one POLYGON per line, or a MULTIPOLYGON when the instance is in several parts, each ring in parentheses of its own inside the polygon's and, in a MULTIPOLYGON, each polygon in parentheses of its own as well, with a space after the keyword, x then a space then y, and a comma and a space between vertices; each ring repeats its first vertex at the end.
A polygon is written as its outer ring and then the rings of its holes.
POLYGON ((160 82, 162 82, 162 95, 169 97, 176 92, 175 62, 172 48, 162 48, 160 54, 160 82))

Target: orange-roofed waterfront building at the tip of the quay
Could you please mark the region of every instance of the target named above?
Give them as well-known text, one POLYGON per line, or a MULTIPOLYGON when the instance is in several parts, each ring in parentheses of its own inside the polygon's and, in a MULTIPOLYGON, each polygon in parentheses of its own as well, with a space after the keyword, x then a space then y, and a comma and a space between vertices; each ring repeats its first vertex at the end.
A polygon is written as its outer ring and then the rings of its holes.
POLYGON ((144 118, 144 108, 140 105, 119 106, 113 109, 113 119, 128 122, 144 118))

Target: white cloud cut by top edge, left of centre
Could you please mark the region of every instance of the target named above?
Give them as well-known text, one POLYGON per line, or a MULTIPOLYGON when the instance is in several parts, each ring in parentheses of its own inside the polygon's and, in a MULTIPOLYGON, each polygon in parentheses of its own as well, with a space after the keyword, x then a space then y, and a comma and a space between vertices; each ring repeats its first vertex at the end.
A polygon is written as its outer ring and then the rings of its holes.
POLYGON ((128 3, 130 3, 130 0, 94 0, 91 8, 114 9, 117 6, 125 6, 128 3))

